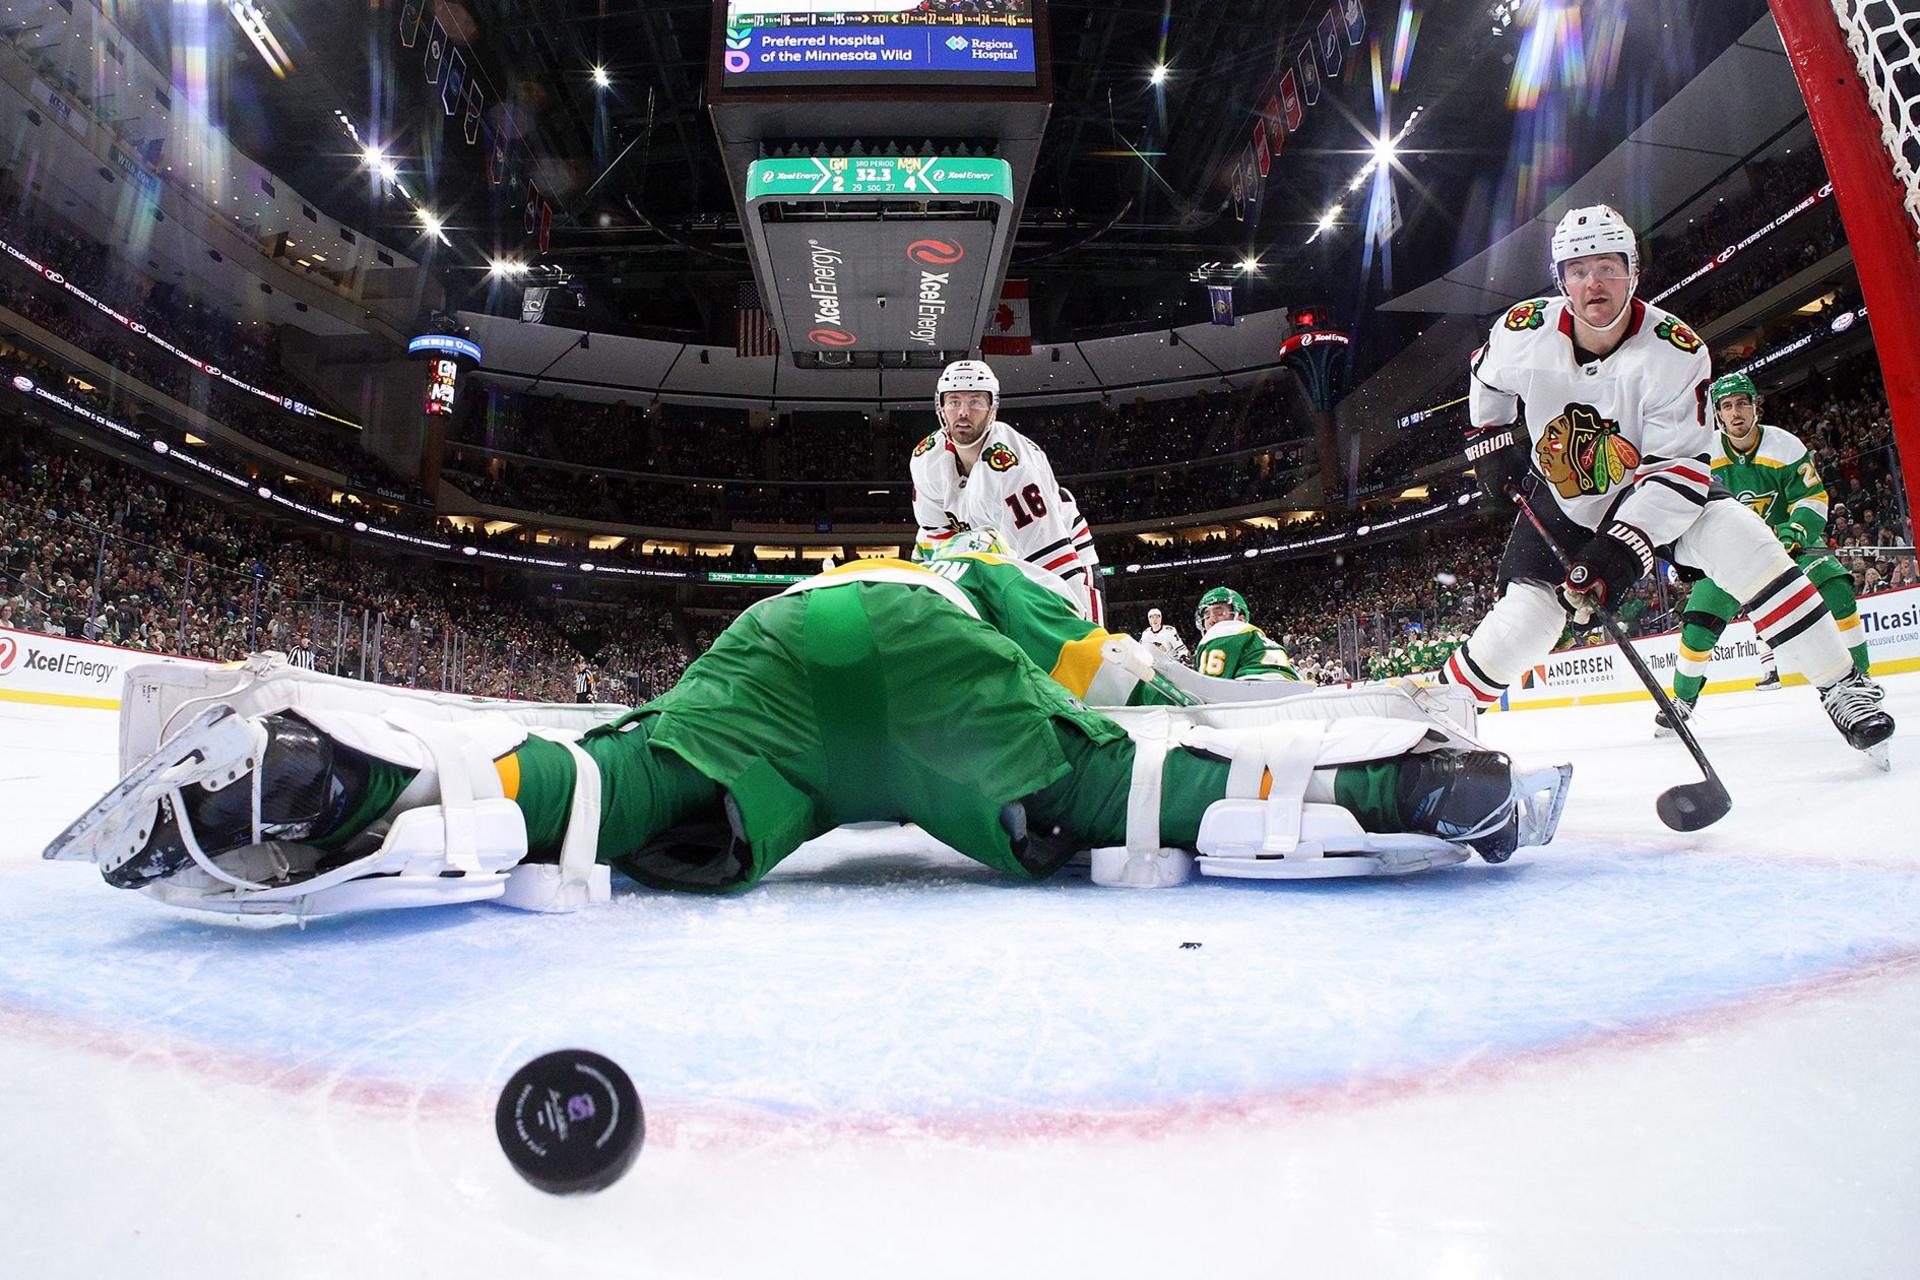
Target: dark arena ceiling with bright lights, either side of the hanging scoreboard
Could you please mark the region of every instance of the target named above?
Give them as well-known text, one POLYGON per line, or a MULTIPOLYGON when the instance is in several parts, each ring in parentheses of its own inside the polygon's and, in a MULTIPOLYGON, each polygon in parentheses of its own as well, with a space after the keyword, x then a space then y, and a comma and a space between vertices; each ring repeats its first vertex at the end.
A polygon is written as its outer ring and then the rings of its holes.
MULTIPOLYGON (((1265 198, 1236 217, 1231 175, 1277 54, 1309 40, 1327 6, 1046 6, 1054 106, 1012 267, 1033 282, 1039 340, 1204 319, 1194 280, 1204 263, 1221 265, 1215 278, 1236 284, 1242 311, 1317 305, 1365 328, 1371 303, 1523 223, 1766 10, 1764 0, 1363 0, 1363 42, 1273 159, 1265 198), (1501 8, 1513 10, 1505 29, 1501 8), (1404 15, 1411 38, 1396 88, 1404 15), (1557 38, 1538 35, 1542 23, 1559 23, 1557 38), (1167 67, 1160 86, 1156 63, 1167 67), (1528 94, 1532 109, 1509 106, 1528 94), (1388 249, 1369 248, 1363 190, 1309 242, 1371 155, 1382 104, 1394 132, 1419 109, 1394 165, 1404 228, 1388 249), (1248 257, 1258 271, 1236 267, 1248 257)), ((227 69, 217 98, 236 144, 344 223, 430 251, 453 301, 484 307, 497 290, 486 263, 522 251, 522 213, 490 186, 484 148, 461 144, 447 123, 422 50, 401 46, 403 0, 372 0, 361 29, 338 23, 336 4, 273 8, 292 63, 284 79, 232 31, 230 56, 213 59, 227 69), (444 219, 445 244, 430 244, 415 205, 372 180, 340 113, 444 219)), ((730 334, 747 253, 707 113, 712 4, 428 0, 426 17, 436 15, 488 90, 490 119, 511 104, 526 169, 551 200, 551 248, 538 261, 580 280, 607 324, 730 334), (595 84, 595 67, 609 84, 595 84)), ((165 27, 148 21, 148 38, 165 40, 165 27)))

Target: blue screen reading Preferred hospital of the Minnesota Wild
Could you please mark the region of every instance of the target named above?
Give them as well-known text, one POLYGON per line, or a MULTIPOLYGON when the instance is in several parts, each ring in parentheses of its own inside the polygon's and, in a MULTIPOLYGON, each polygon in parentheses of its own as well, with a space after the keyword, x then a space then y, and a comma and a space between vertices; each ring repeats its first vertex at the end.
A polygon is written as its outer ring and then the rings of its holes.
POLYGON ((726 92, 1039 83, 1041 0, 718 0, 726 92))

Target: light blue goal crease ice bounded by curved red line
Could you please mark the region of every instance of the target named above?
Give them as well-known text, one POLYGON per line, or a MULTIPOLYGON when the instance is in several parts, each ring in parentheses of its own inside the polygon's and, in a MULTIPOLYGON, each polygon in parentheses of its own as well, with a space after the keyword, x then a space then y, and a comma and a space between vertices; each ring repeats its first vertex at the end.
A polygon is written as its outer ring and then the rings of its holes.
POLYGON ((209 925, 50 865, 0 875, 0 1004, 419 1086, 582 1044, 643 1098, 924 1117, 1446 1069, 1920 948, 1912 873, 1521 858, 1165 892, 860 858, 739 898, 301 929, 209 925))

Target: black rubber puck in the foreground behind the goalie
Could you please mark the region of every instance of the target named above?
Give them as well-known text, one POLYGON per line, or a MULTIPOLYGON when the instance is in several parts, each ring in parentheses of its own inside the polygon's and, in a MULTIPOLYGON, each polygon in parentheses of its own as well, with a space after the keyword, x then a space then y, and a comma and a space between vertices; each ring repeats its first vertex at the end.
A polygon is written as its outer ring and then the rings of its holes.
POLYGON ((578 1196, 620 1180, 647 1138, 647 1117, 612 1059, 559 1050, 513 1073, 493 1107, 493 1132, 522 1178, 578 1196))

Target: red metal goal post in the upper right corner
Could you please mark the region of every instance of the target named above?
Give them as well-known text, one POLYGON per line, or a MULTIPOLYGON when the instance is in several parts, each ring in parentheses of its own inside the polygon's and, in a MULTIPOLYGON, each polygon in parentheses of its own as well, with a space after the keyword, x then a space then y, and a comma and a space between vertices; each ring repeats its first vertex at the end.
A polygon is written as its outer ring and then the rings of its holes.
POLYGON ((1768 6, 1834 180, 1920 520, 1920 2, 1768 6))

